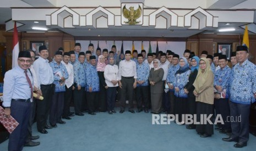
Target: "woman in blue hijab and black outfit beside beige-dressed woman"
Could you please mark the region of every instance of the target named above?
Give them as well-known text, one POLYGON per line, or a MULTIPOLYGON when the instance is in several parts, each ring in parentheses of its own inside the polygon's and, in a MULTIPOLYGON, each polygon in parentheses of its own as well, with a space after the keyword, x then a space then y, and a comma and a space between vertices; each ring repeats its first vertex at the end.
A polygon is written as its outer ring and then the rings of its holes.
MULTIPOLYGON (((196 107, 197 104, 195 103, 195 96, 193 94, 194 86, 193 83, 195 81, 195 78, 197 78, 198 68, 199 68, 199 57, 193 56, 191 61, 191 73, 188 77, 188 83, 184 86, 184 92, 188 94, 188 113, 191 115, 194 115, 197 113, 196 107)), ((186 126, 187 129, 195 129, 194 124, 190 124, 186 126)))

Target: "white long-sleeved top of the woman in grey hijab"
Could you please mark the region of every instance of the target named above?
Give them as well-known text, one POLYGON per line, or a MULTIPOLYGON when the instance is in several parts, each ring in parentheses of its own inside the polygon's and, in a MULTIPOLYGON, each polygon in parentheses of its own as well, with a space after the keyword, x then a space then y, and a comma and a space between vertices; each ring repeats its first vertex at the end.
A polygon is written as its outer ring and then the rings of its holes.
POLYGON ((105 82, 108 87, 115 87, 118 86, 118 83, 116 85, 113 85, 111 83, 111 80, 119 80, 118 78, 118 66, 117 65, 107 65, 104 69, 104 77, 105 77, 105 82))

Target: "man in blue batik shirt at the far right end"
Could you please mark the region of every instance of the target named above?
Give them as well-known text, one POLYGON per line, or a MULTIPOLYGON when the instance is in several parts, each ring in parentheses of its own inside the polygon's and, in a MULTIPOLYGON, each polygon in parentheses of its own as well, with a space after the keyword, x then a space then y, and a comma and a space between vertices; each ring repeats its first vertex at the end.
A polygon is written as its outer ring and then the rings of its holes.
POLYGON ((248 48, 238 46, 236 57, 238 63, 232 68, 230 80, 230 116, 240 121, 231 122, 232 135, 223 141, 236 141, 236 148, 247 146, 249 140, 250 103, 256 98, 256 66, 248 61, 248 48))

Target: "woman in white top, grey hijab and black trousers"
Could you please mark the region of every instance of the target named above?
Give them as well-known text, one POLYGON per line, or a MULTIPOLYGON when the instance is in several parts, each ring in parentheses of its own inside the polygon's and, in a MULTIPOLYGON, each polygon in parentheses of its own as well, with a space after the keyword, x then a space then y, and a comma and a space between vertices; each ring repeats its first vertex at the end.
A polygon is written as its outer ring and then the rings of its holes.
POLYGON ((115 65, 114 57, 109 58, 110 62, 105 67, 104 77, 105 82, 108 86, 107 89, 107 111, 109 114, 116 113, 115 101, 116 101, 116 90, 118 86, 118 66, 115 65))

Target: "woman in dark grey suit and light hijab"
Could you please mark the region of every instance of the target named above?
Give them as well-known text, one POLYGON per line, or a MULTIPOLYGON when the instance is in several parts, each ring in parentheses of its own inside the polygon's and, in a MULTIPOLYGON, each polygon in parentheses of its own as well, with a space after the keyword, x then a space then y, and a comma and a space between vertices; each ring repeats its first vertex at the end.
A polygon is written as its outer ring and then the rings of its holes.
POLYGON ((153 60, 154 68, 151 68, 149 73, 149 84, 151 94, 151 109, 154 114, 159 114, 162 110, 162 92, 164 85, 162 77, 164 77, 164 69, 159 68, 160 61, 153 60))

